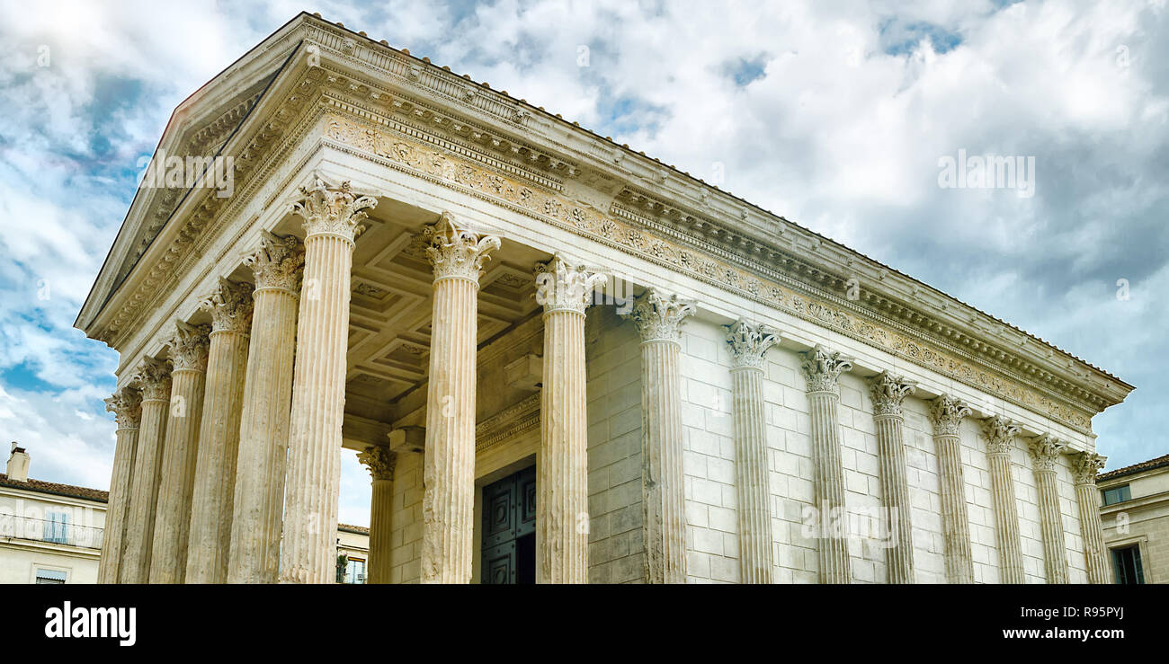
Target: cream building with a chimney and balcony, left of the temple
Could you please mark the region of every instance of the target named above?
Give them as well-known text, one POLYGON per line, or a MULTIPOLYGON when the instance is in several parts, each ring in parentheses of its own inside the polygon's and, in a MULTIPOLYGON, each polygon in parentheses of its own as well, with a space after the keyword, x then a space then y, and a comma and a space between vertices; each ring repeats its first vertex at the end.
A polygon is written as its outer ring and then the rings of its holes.
POLYGON ((30 479, 12 444, 0 475, 0 583, 96 583, 109 494, 30 479))

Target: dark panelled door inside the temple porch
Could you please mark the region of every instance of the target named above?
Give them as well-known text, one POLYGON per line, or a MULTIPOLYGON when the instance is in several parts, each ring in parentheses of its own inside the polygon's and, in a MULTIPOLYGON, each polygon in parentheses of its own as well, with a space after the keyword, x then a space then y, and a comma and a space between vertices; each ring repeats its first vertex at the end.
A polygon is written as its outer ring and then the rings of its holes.
POLYGON ((480 583, 535 583, 535 466, 483 487, 480 583))

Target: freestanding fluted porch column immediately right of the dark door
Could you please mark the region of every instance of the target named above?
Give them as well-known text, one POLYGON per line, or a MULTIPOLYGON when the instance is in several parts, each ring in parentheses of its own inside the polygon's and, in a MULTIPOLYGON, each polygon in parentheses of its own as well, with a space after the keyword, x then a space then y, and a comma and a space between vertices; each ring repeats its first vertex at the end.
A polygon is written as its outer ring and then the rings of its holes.
POLYGON ((535 482, 537 580, 588 583, 588 397, 584 310, 604 275, 560 256, 535 267, 544 305, 540 463, 535 482))

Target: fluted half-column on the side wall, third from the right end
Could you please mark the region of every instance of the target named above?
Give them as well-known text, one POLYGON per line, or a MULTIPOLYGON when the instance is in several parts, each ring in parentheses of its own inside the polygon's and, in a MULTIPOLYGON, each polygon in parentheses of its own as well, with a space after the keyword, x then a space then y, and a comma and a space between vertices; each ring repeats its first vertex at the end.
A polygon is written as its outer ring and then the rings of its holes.
POLYGON ((1018 509, 1015 506, 1015 479, 1011 477, 1011 448, 1019 427, 994 415, 983 420, 982 433, 987 437, 987 458, 990 462, 999 577, 1003 583, 1026 583, 1018 509))

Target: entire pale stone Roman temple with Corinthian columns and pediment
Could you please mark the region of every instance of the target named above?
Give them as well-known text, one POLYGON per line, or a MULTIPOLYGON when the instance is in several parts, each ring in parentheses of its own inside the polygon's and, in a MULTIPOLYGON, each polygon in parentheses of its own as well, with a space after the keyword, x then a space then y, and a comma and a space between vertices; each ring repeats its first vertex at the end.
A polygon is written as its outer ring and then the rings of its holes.
POLYGON ((1112 581, 1132 386, 316 15, 175 110, 76 325, 103 582, 333 582, 343 448, 371 583, 1112 581))

